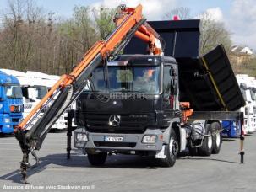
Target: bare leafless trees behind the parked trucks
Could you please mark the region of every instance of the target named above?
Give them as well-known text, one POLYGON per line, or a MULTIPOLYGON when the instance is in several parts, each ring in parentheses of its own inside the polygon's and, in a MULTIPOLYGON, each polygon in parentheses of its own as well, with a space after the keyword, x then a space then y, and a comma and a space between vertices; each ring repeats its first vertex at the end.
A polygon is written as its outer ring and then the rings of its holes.
MULTIPOLYGON (((181 14, 182 19, 188 19, 188 10, 175 8, 169 14, 181 14)), ((68 73, 96 40, 104 40, 112 32, 115 13, 115 8, 75 6, 73 16, 62 19, 53 12, 45 13, 33 0, 9 0, 8 9, 0 17, 0 67, 68 73)), ((219 43, 231 45, 224 25, 207 15, 201 31, 201 54, 219 43)))

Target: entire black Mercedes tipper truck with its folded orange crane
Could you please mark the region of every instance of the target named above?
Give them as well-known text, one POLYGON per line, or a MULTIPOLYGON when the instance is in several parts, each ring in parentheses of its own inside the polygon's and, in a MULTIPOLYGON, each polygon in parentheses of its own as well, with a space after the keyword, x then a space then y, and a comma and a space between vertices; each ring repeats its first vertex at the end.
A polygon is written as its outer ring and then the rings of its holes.
MULTIPOLYGON (((75 146, 84 149, 95 165, 104 163, 106 155, 113 152, 155 157, 166 167, 173 166, 177 153, 186 147, 201 155, 218 153, 219 120, 242 122, 242 113, 236 110, 244 100, 226 53, 218 46, 198 57, 198 40, 190 40, 188 35, 199 36, 198 27, 192 24, 194 31, 183 37, 177 28, 171 33, 167 27, 166 33, 164 28, 172 24, 157 28, 157 24, 147 23, 141 5, 119 6, 114 22, 117 28, 112 34, 96 42, 74 71, 63 75, 16 127, 25 183, 30 152, 38 163, 35 150, 40 150, 51 126, 75 100, 74 119, 79 127, 74 132, 75 146), (165 38, 172 35, 174 39, 165 38), (141 51, 136 49, 143 42, 134 41, 133 36, 146 42, 141 51), (187 45, 178 43, 180 39, 187 45), (192 44, 195 46, 188 51, 192 44), (136 55, 128 50, 147 54, 136 55), (127 55, 119 55, 120 51, 127 55), (43 109, 44 114, 26 131, 43 109)), ((193 23, 199 26, 199 21, 193 23)), ((243 157, 242 145, 240 154, 243 157)))

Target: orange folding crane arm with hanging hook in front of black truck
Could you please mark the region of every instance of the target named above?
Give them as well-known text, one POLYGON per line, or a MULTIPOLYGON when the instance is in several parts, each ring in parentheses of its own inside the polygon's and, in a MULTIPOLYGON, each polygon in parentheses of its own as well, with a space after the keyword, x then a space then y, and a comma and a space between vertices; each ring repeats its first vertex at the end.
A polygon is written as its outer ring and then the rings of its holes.
POLYGON ((51 126, 64 113, 66 109, 78 98, 87 83, 90 73, 102 62, 117 56, 128 41, 135 35, 144 40, 149 47, 151 55, 162 55, 160 35, 146 23, 142 15, 142 6, 136 8, 126 8, 121 5, 117 8, 114 22, 117 28, 109 35, 106 40, 95 43, 89 51, 84 54, 83 60, 74 68, 70 74, 63 75, 46 96, 41 99, 35 109, 30 112, 14 130, 15 137, 19 141, 19 146, 23 152, 23 159, 20 165, 21 173, 25 184, 27 183, 27 169, 30 168, 29 153, 38 157, 35 150, 40 150, 51 126), (39 117, 42 110, 44 114, 39 117), (35 124, 30 131, 26 128, 32 121, 35 124))

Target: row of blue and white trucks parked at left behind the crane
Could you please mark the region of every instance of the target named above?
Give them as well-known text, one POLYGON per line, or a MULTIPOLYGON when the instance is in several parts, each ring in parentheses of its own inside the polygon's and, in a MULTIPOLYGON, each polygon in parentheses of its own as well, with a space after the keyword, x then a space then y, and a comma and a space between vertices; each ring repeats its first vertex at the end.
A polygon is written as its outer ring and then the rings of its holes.
MULTIPOLYGON (((3 88, 3 126, 0 129, 2 134, 14 133, 14 126, 19 125, 19 122, 30 114, 30 111, 35 108, 41 99, 46 95, 52 85, 60 78, 59 76, 47 75, 41 72, 19 72, 9 69, 0 69, 3 88), (8 81, 7 81, 8 79, 8 81), (8 83, 9 82, 9 83, 8 83), (10 87, 7 87, 10 86, 10 87), (4 96, 6 93, 6 96, 4 96), (8 103, 10 109, 17 108, 15 113, 8 111, 8 103), (15 104, 15 105, 13 105, 15 104), (5 106, 7 105, 7 106, 5 106), (6 109, 5 109, 6 108, 6 109), (9 125, 10 124, 10 125, 9 125)), ((43 112, 42 112, 43 113, 43 112)), ((30 127, 27 130, 30 130, 30 127)), ((67 128, 67 113, 63 114, 52 129, 63 130, 67 128)))

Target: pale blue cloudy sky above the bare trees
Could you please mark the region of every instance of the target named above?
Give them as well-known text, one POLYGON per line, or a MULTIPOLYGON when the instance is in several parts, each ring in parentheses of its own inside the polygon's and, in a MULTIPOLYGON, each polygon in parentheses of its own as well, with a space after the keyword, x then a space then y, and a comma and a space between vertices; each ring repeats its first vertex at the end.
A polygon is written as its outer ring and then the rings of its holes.
MULTIPOLYGON (((163 15, 176 7, 190 8, 192 16, 197 17, 207 11, 226 24, 231 31, 234 44, 248 45, 256 50, 256 2, 255 0, 35 0, 46 12, 54 12, 58 16, 68 18, 75 5, 117 7, 126 3, 135 6, 142 3, 144 15, 149 20, 160 20, 163 15)), ((8 0, 0 0, 0 8, 4 10, 8 0)))

